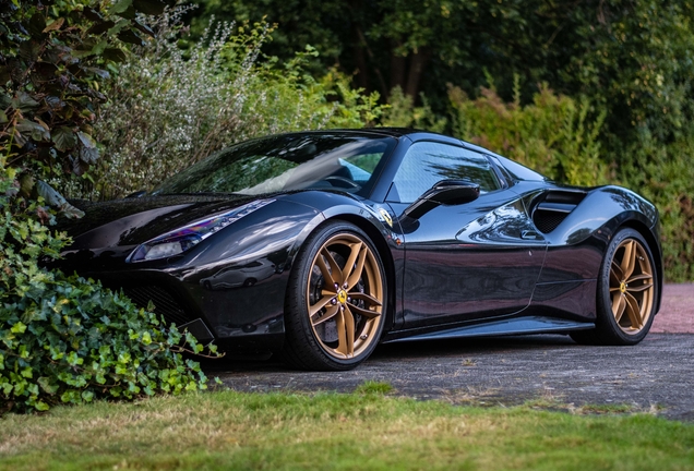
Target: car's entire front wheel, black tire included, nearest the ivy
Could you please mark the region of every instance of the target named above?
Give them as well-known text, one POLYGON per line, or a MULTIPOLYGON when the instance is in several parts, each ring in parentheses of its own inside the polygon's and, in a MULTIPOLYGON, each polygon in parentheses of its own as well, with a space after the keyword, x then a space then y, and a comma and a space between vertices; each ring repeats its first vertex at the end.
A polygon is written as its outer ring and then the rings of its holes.
POLYGON ((373 351, 385 317, 383 264, 369 237, 342 221, 319 228, 290 275, 283 357, 302 370, 349 370, 373 351))

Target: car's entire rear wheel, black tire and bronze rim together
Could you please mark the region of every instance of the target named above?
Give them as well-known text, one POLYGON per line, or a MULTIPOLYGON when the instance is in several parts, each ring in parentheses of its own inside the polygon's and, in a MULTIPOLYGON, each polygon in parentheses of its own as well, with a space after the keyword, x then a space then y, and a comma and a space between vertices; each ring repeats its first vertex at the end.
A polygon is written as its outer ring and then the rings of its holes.
POLYGON ((571 337, 585 345, 636 345, 650 330, 657 299, 658 273, 648 243, 636 230, 622 229, 600 267, 596 328, 571 337))

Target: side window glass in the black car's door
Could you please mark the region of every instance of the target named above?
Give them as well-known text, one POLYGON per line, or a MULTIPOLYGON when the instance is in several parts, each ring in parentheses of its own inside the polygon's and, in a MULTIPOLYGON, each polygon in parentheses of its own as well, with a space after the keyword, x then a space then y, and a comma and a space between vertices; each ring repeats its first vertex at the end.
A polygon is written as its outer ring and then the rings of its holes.
POLYGON ((414 203, 441 180, 477 183, 481 193, 501 188, 487 157, 462 147, 422 142, 407 150, 388 197, 399 195, 400 203, 414 203))

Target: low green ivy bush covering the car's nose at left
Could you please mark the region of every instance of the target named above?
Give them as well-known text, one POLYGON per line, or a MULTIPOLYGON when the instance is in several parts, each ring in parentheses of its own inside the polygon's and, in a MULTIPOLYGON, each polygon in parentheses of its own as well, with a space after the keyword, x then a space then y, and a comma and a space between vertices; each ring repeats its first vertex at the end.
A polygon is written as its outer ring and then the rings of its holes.
MULTIPOLYGON (((13 193, 15 171, 0 164, 0 194, 13 193)), ((190 334, 161 327, 122 293, 40 266, 68 239, 22 202, 0 197, 0 414, 204 389, 200 365, 181 357, 183 339, 202 350, 190 334)))

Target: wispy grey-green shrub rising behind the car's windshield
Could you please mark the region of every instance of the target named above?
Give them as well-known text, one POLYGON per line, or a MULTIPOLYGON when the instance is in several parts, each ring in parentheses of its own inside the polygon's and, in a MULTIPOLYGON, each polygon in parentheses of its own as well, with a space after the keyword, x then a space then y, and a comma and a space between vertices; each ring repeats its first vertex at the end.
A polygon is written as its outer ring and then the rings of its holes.
POLYGON ((83 196, 112 198, 151 189, 253 136, 363 126, 378 117, 378 94, 352 90, 336 72, 321 80, 303 72, 306 60, 316 55, 310 47, 286 63, 261 60, 267 24, 222 23, 181 48, 186 11, 158 17, 151 25, 156 38, 134 48, 106 88, 110 101, 95 126, 105 159, 93 174, 95 192, 83 196))

